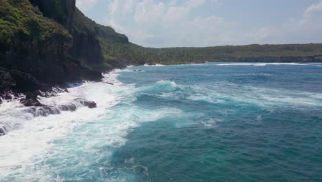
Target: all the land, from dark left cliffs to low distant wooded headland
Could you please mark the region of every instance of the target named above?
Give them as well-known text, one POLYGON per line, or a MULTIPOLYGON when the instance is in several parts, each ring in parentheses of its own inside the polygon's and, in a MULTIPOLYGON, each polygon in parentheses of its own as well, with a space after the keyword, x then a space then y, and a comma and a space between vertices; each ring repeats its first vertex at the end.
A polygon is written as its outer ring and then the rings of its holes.
POLYGON ((144 48, 85 17, 75 3, 0 1, 0 92, 100 80, 101 72, 144 63, 322 61, 322 44, 144 48))

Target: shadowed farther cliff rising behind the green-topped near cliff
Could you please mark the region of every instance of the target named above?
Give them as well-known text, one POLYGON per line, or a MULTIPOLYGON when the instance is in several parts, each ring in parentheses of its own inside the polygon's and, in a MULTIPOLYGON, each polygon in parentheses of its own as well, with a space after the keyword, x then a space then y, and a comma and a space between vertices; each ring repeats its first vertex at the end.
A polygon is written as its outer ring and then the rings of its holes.
POLYGON ((100 45, 100 39, 109 43, 129 43, 124 34, 116 33, 112 28, 100 26, 95 21, 85 17, 76 8, 75 0, 30 0, 39 7, 43 15, 61 23, 72 34, 72 46, 68 54, 78 59, 81 64, 95 70, 111 70, 105 63, 105 57, 100 45))

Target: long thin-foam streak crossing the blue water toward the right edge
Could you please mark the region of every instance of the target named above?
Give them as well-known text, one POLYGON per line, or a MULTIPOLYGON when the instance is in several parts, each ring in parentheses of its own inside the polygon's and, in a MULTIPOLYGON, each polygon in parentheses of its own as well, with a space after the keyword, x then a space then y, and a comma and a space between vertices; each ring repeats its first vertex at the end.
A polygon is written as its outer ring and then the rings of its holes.
POLYGON ((288 105, 289 107, 322 106, 322 94, 314 92, 297 92, 283 89, 270 89, 237 85, 233 83, 216 83, 211 86, 191 86, 193 93, 187 99, 223 103, 239 101, 255 103, 264 108, 288 105), (239 90, 239 92, 236 92, 239 90))

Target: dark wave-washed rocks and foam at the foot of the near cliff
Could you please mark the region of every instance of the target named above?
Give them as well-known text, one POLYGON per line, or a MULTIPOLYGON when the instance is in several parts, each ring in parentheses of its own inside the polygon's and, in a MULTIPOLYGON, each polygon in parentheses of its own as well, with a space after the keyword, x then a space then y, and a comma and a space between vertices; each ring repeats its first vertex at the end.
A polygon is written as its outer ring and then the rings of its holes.
MULTIPOLYGON (((12 122, 10 119, 6 119, 8 114, 10 115, 19 115, 22 114, 22 117, 25 115, 26 119, 33 119, 36 117, 50 117, 52 115, 59 115, 64 112, 76 112, 80 108, 88 108, 89 110, 96 110, 100 108, 102 105, 99 105, 97 101, 92 101, 91 97, 82 97, 81 93, 77 93, 76 90, 82 89, 87 85, 111 85, 113 87, 115 84, 120 84, 117 82, 116 71, 109 72, 104 74, 105 78, 99 82, 93 81, 83 81, 81 84, 76 84, 71 88, 52 88, 52 91, 39 92, 38 95, 32 102, 38 102, 41 105, 24 105, 23 101, 26 99, 26 94, 18 94, 19 97, 16 97, 15 94, 12 94, 8 100, 3 100, 0 104, 0 112, 2 119, 0 119, 0 138, 10 134, 14 128, 17 128, 14 123, 14 119, 12 122), (79 94, 77 96, 77 94, 79 94), (97 104, 97 105, 96 105, 97 104), (17 110, 17 112, 14 112, 17 110), (6 124, 6 121, 9 123, 6 124), (3 123, 4 122, 4 123, 3 123)), ((28 93, 27 93, 28 94, 28 93)), ((19 122, 17 123, 19 124, 19 122)))

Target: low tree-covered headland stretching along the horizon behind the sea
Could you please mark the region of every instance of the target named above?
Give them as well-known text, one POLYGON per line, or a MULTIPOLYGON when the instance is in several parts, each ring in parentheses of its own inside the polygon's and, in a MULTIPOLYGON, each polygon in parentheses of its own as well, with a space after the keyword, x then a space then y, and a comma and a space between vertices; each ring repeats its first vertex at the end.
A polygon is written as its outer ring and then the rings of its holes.
POLYGON ((226 45, 206 48, 144 48, 156 54, 151 63, 230 62, 318 62, 322 61, 322 44, 226 45))

